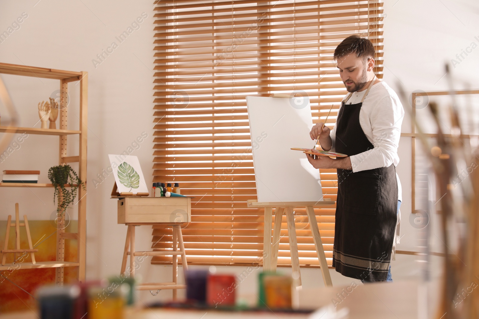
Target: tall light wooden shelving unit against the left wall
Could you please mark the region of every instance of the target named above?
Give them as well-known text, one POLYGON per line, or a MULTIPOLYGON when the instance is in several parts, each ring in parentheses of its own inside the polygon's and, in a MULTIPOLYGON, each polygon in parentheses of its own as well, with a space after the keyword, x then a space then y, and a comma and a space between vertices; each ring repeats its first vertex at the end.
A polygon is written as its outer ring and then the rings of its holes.
MULTIPOLYGON (((88 110, 88 73, 74 72, 56 69, 48 69, 35 66, 20 66, 14 64, 0 63, 0 73, 11 74, 25 77, 43 77, 50 79, 57 79, 60 81, 60 111, 59 129, 41 129, 31 127, 6 127, 0 126, 0 132, 4 133, 28 133, 38 135, 57 135, 59 138, 58 147, 58 163, 79 163, 78 176, 85 183, 87 182, 87 110, 88 110), (72 131, 67 129, 67 113, 68 108, 65 105, 68 94, 68 83, 80 81, 80 131, 72 131), (67 156, 67 137, 68 135, 79 136, 78 155, 67 156)), ((52 163, 53 166, 53 163, 52 163)), ((68 185, 66 185, 68 186, 68 185)), ((0 187, 53 187, 52 184, 25 184, 25 183, 0 183, 0 187)), ((86 189, 79 187, 78 189, 78 233, 65 232, 63 227, 58 227, 57 231, 57 260, 22 263, 20 269, 33 268, 56 268, 56 282, 57 285, 63 285, 63 270, 64 267, 79 267, 78 280, 85 281, 85 258, 86 258, 86 189), (65 240, 78 240, 78 261, 66 262, 64 260, 65 240)), ((58 225, 62 226, 65 220, 61 220, 58 225)), ((40 257, 40 256, 39 256, 40 257)), ((39 258, 40 259, 40 258, 39 258)), ((6 264, 0 266, 0 270, 6 270, 11 265, 6 264)))

